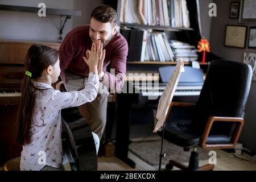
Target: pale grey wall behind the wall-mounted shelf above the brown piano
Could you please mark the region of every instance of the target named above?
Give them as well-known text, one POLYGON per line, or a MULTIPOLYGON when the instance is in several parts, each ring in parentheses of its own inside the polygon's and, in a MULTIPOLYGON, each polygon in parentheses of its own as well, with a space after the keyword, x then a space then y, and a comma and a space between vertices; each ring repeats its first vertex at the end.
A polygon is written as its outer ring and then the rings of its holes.
MULTIPOLYGON (((2 0, 2 5, 37 7, 40 2, 46 3, 46 8, 80 10, 82 16, 72 16, 63 30, 63 38, 72 28, 87 24, 94 7, 101 5, 102 0, 2 0)), ((47 15, 39 17, 36 13, 0 10, 0 39, 31 40, 44 42, 59 42, 60 16, 47 15)))

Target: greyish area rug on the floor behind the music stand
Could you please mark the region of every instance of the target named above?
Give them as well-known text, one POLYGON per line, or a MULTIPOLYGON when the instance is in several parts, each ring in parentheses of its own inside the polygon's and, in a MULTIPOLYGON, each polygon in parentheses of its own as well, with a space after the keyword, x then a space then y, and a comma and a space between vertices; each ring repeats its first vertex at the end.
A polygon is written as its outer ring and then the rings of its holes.
MULTIPOLYGON (((151 166, 158 166, 160 147, 161 138, 159 137, 158 139, 150 141, 132 142, 129 145, 129 150, 151 166)), ((203 150, 203 148, 198 147, 197 151, 200 154, 200 162, 201 160, 208 160, 210 158, 210 150, 203 150)), ((168 140, 164 140, 163 142, 163 152, 165 152, 167 155, 166 158, 162 158, 163 167, 169 162, 170 159, 177 160, 181 163, 188 163, 189 156, 191 154, 191 152, 183 151, 182 147, 168 142, 168 140)))

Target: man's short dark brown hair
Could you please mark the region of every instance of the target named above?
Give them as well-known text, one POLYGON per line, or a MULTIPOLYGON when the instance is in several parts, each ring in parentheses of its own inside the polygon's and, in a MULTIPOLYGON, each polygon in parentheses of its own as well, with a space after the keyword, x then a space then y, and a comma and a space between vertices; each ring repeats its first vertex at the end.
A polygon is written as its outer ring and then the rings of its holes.
POLYGON ((90 18, 94 18, 102 23, 109 22, 112 26, 115 26, 117 24, 117 11, 108 5, 101 5, 92 11, 90 18))

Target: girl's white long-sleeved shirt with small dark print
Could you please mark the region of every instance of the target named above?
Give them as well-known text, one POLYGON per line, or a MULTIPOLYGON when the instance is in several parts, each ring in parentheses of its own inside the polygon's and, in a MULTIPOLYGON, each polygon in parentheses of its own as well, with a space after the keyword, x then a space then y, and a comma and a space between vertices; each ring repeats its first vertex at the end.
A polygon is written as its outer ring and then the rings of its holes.
POLYGON ((35 107, 32 116, 31 143, 23 146, 20 170, 40 170, 44 166, 62 167, 61 109, 92 102, 98 93, 99 78, 90 73, 85 88, 60 92, 51 85, 34 82, 35 107))

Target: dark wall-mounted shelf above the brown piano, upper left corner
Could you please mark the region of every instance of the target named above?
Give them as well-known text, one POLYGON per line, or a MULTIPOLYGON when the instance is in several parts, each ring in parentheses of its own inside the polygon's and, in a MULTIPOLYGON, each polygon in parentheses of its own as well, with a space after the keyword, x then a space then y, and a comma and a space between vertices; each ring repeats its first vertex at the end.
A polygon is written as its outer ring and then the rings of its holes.
MULTIPOLYGON (((4 11, 21 11, 28 13, 38 13, 39 7, 30 7, 30 6, 12 6, 12 5, 0 5, 0 10, 4 11)), ((67 16, 81 16, 81 11, 74 10, 63 10, 63 9, 46 9, 47 14, 52 15, 67 15, 67 16)))

